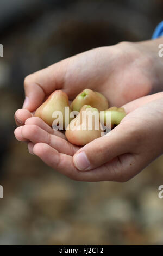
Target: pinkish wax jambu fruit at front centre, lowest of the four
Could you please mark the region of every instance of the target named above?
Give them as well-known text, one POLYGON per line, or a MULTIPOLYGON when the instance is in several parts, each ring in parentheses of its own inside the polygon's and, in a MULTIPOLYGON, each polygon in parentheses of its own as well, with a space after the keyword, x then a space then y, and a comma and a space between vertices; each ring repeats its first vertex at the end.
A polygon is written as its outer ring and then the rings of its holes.
POLYGON ((80 113, 66 129, 66 138, 75 145, 83 146, 102 135, 97 108, 83 106, 80 113), (84 114, 83 114, 84 112, 84 114), (97 130, 96 130, 97 129, 97 130))

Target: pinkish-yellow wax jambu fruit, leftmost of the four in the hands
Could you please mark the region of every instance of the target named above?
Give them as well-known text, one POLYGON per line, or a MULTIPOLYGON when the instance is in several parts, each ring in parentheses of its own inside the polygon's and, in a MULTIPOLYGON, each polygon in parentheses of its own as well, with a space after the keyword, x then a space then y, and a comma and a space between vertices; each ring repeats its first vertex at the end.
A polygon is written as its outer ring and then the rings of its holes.
MULTIPOLYGON (((57 118, 53 117, 53 113, 55 111, 60 111, 62 113, 63 119, 63 128, 65 126, 65 107, 69 108, 71 112, 68 96, 65 92, 61 90, 55 90, 48 99, 39 107, 35 112, 35 117, 40 117, 45 123, 49 126, 52 126, 53 121, 57 118)), ((68 118, 68 123, 70 123, 69 115, 66 117, 68 118)), ((72 119, 71 119, 72 120, 72 119)))

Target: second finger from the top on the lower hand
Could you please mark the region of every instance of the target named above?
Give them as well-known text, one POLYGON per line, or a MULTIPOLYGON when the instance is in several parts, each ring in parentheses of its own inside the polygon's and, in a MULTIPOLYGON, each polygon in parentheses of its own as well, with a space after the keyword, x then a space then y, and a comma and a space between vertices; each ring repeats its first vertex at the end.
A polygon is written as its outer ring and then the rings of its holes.
POLYGON ((39 142, 49 144, 59 152, 74 155, 79 147, 72 145, 70 142, 56 135, 49 134, 36 125, 24 125, 21 130, 22 137, 36 144, 39 142))

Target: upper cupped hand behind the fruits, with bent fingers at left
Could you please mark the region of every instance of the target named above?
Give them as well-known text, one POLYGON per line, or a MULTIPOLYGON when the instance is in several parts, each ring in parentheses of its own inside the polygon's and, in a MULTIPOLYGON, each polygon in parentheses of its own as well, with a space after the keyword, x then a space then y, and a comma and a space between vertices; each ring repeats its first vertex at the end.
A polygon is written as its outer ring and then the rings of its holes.
POLYGON ((96 48, 55 63, 24 80, 24 110, 15 113, 23 125, 32 112, 54 92, 64 90, 70 100, 85 88, 104 94, 111 106, 120 107, 163 88, 163 62, 158 56, 162 39, 121 42, 96 48))

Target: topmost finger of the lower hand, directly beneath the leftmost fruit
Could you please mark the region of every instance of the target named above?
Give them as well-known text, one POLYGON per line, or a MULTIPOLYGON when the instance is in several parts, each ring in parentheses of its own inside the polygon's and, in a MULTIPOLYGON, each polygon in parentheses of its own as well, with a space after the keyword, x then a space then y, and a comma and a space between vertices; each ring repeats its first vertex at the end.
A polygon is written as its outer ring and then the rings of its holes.
POLYGON ((56 135, 58 137, 61 137, 63 139, 66 139, 66 136, 60 132, 60 131, 55 131, 53 130, 48 124, 46 124, 41 118, 39 117, 31 117, 31 118, 28 118, 25 122, 26 125, 29 125, 29 124, 33 124, 33 125, 37 125, 39 126, 41 129, 47 131, 48 133, 51 133, 53 135, 56 135))

